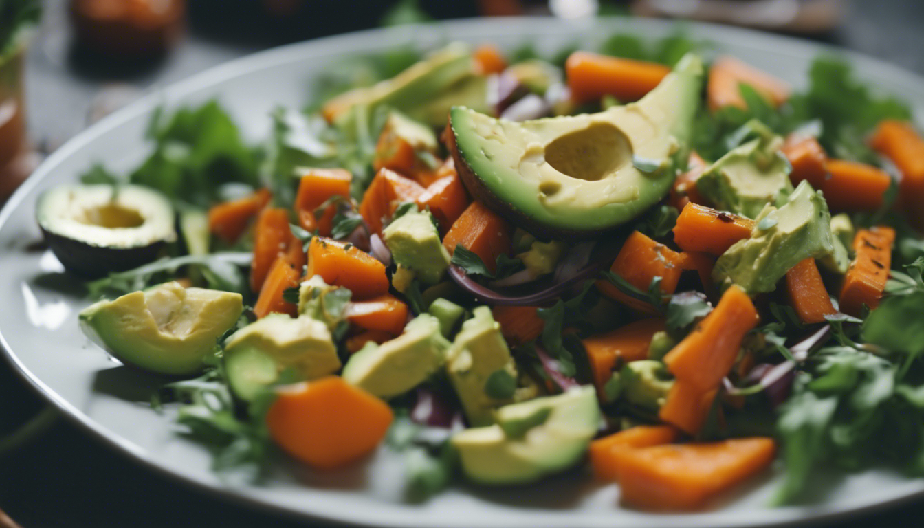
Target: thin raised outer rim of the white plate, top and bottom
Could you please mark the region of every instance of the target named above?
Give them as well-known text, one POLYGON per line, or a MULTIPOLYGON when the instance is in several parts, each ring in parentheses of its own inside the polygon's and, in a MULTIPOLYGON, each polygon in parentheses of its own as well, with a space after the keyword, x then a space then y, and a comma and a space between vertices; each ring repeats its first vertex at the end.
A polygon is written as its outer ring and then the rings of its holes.
MULTIPOLYGON (((407 33, 407 37, 403 40, 407 41, 407 43, 412 43, 419 46, 427 43, 428 40, 433 41, 433 43, 439 42, 440 36, 449 36, 450 38, 453 38, 454 34, 464 34, 467 32, 496 33, 497 30, 473 30, 478 28, 490 29, 493 26, 500 28, 502 26, 506 27, 510 24, 516 24, 517 27, 532 26, 535 29, 542 28, 543 26, 552 27, 554 29, 566 28, 566 30, 562 32, 574 34, 575 36, 572 40, 586 41, 587 38, 582 37, 578 32, 578 29, 582 24, 586 25, 588 23, 590 23, 590 25, 593 27, 606 28, 609 31, 626 29, 626 24, 640 26, 641 28, 629 28, 630 31, 634 31, 636 33, 642 33, 643 31, 638 30, 644 30, 645 26, 649 28, 656 28, 658 31, 669 31, 676 28, 694 29, 696 31, 703 31, 704 33, 708 32, 710 35, 714 35, 714 40, 719 42, 741 41, 744 39, 756 41, 759 43, 763 42, 766 44, 773 44, 774 53, 777 55, 805 56, 806 54, 819 55, 822 53, 829 55, 840 55, 844 56, 851 64, 855 65, 857 67, 857 71, 862 73, 874 75, 878 71, 886 78, 896 81, 899 84, 924 85, 924 76, 921 74, 910 71, 906 68, 899 67, 893 63, 878 59, 871 55, 846 50, 830 43, 817 43, 789 35, 779 35, 763 31, 754 31, 705 22, 631 17, 613 17, 609 19, 597 18, 595 20, 586 21, 561 20, 552 17, 456 18, 439 21, 437 23, 401 26, 401 29, 407 33), (420 38, 420 33, 423 33, 422 38, 420 38)), ((519 31, 514 32, 518 33, 519 31)), ((189 95, 194 94, 199 90, 220 86, 227 80, 252 74, 261 70, 262 68, 268 68, 274 65, 281 65, 288 62, 303 60, 306 55, 324 55, 322 50, 325 48, 331 48, 328 53, 333 53, 333 55, 348 56, 352 53, 356 53, 353 50, 344 51, 333 49, 341 43, 359 43, 369 40, 372 37, 387 36, 389 39, 392 39, 390 41, 391 45, 399 45, 399 42, 395 42, 395 38, 393 36, 394 34, 395 28, 378 28, 325 36, 317 39, 301 41, 298 43, 288 43, 266 50, 261 50, 249 55, 237 57, 235 59, 226 61, 225 63, 215 65, 211 68, 206 68, 201 72, 189 76, 186 79, 177 80, 176 82, 169 83, 164 87, 156 88, 152 92, 141 97, 138 101, 128 104, 126 107, 117 110, 112 115, 104 117, 100 121, 92 124, 87 129, 81 130, 78 134, 67 140, 61 147, 55 150, 54 153, 43 160, 43 163, 38 166, 30 175, 30 177, 18 188, 18 190, 16 190, 13 195, 10 196, 3 209, 0 210, 0 227, 4 227, 7 220, 12 215, 16 214, 21 203, 25 200, 30 191, 37 187, 43 181, 43 179, 52 174, 55 169, 58 168, 58 166, 66 162, 71 155, 79 152, 79 150, 87 146, 87 144, 96 140, 99 136, 102 136, 106 132, 109 132, 113 129, 118 129, 129 120, 143 116, 145 114, 150 114, 161 104, 175 104, 176 102, 182 101, 183 98, 188 97, 189 95), (389 33, 392 33, 392 35, 389 35, 389 33)), ((529 37, 529 34, 526 34, 524 31, 524 33, 521 35, 521 40, 523 42, 528 42, 529 37)), ((757 47, 766 47, 766 44, 757 47)), ((347 45, 346 47, 349 46, 347 45)), ((920 110, 916 108, 915 117, 919 117, 919 114, 920 110)), ((37 375, 34 375, 29 370, 29 368, 18 358, 18 355, 13 350, 11 350, 2 332, 0 332, 0 350, 3 351, 2 355, 6 358, 6 362, 13 367, 12 370, 18 375, 18 377, 22 379, 29 387, 31 387, 32 390, 38 393, 43 399, 54 405, 55 408, 60 411, 61 414, 67 418, 70 423, 77 424, 80 429, 90 433, 91 437, 102 441, 102 443, 107 447, 113 448, 113 450, 115 450, 119 456, 127 457, 129 460, 139 463, 140 466, 153 470, 155 473, 159 473, 168 479, 178 481, 183 483, 183 485, 188 485, 197 490, 204 491, 212 497, 219 497, 221 500, 233 501, 236 505, 254 510, 262 510, 301 521, 313 520, 335 522, 340 525, 354 526, 424 526, 424 524, 421 522, 408 520, 407 516, 401 513, 398 513, 397 515, 389 514, 376 519, 376 513, 374 511, 366 514, 346 515, 338 517, 326 512, 294 510, 282 504, 263 500, 258 496, 242 493, 240 488, 237 487, 221 487, 212 485, 210 483, 202 482, 194 478, 193 475, 186 473, 176 473, 175 471, 172 471, 168 466, 159 463, 155 458, 151 457, 149 453, 143 448, 136 446, 132 441, 117 435, 115 432, 110 431, 105 425, 93 420, 90 416, 70 404, 67 399, 57 394, 54 389, 47 386, 43 380, 41 380, 37 375)), ((909 479, 909 482, 911 480, 912 479, 909 479)), ((670 514, 666 516, 654 514, 650 518, 646 518, 646 522, 653 523, 651 525, 658 524, 664 526, 691 527, 718 527, 737 525, 786 526, 806 524, 809 522, 828 522, 835 519, 844 518, 847 515, 856 514, 858 512, 884 510, 901 503, 910 502, 911 500, 920 497, 924 497, 924 488, 906 492, 902 495, 897 495, 895 497, 887 498, 884 500, 867 499, 864 501, 860 499, 849 508, 815 512, 811 517, 808 518, 800 516, 772 516, 774 518, 754 520, 746 519, 748 513, 752 513, 749 510, 734 512, 736 515, 729 515, 729 512, 725 510, 723 519, 713 521, 712 519, 715 516, 722 514, 723 510, 709 510, 701 513, 670 514)), ((811 505, 808 505, 808 507, 810 508, 811 505)), ((615 508, 619 508, 619 506, 616 505, 615 508)), ((791 508, 784 507, 768 511, 783 512, 786 510, 791 510, 791 508)), ((802 509, 800 508, 799 510, 802 509)), ((766 512, 761 512, 761 517, 765 517, 765 513, 766 512)), ((601 515, 596 515, 595 517, 598 519, 602 518, 601 515)), ((584 519, 587 520, 587 518, 584 519)), ((494 526, 496 524, 496 522, 474 522, 474 520, 468 520, 466 525, 494 526)), ((450 524, 444 525, 448 526, 450 524)), ((506 521, 504 525, 511 526, 512 524, 510 524, 509 521, 506 521)), ((584 522, 583 524, 576 523, 575 525, 602 526, 605 525, 605 520, 604 522, 584 522)), ((535 527, 536 524, 534 522, 530 522, 529 526, 535 527)))

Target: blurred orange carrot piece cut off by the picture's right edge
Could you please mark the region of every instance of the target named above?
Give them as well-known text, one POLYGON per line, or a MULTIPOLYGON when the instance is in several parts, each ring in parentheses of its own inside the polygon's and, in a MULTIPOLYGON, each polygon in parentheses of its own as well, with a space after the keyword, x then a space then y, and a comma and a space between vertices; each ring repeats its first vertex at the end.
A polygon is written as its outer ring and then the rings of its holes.
POLYGON ((902 173, 899 196, 918 230, 924 230, 924 138, 905 121, 887 119, 873 132, 870 145, 902 173))

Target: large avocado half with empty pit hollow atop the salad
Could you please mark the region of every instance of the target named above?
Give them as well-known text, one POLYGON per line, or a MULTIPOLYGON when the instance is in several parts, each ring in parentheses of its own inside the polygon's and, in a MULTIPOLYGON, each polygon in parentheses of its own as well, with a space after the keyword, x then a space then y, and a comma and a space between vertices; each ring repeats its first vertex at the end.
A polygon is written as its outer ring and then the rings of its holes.
POLYGON ((498 215, 538 236, 590 238, 670 190, 687 158, 702 72, 688 54, 638 102, 597 114, 517 123, 456 106, 449 148, 468 191, 498 215))

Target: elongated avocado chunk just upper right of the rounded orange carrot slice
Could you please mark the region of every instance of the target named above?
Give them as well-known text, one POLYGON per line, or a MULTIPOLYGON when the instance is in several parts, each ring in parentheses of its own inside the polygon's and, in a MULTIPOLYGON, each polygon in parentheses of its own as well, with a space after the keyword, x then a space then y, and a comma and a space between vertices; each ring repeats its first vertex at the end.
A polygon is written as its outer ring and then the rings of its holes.
POLYGON ((380 398, 406 393, 427 380, 446 361, 449 341, 440 331, 440 321, 421 313, 407 323, 403 334, 378 345, 374 341, 353 354, 343 377, 380 398))

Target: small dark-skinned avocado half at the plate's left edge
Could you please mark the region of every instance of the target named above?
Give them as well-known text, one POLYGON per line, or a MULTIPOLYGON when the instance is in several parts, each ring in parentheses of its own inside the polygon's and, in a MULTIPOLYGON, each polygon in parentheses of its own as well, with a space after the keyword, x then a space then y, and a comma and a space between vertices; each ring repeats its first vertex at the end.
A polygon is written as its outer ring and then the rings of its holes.
POLYGON ((152 262, 176 240, 174 209, 138 185, 64 185, 43 192, 36 219, 68 271, 95 278, 152 262))

